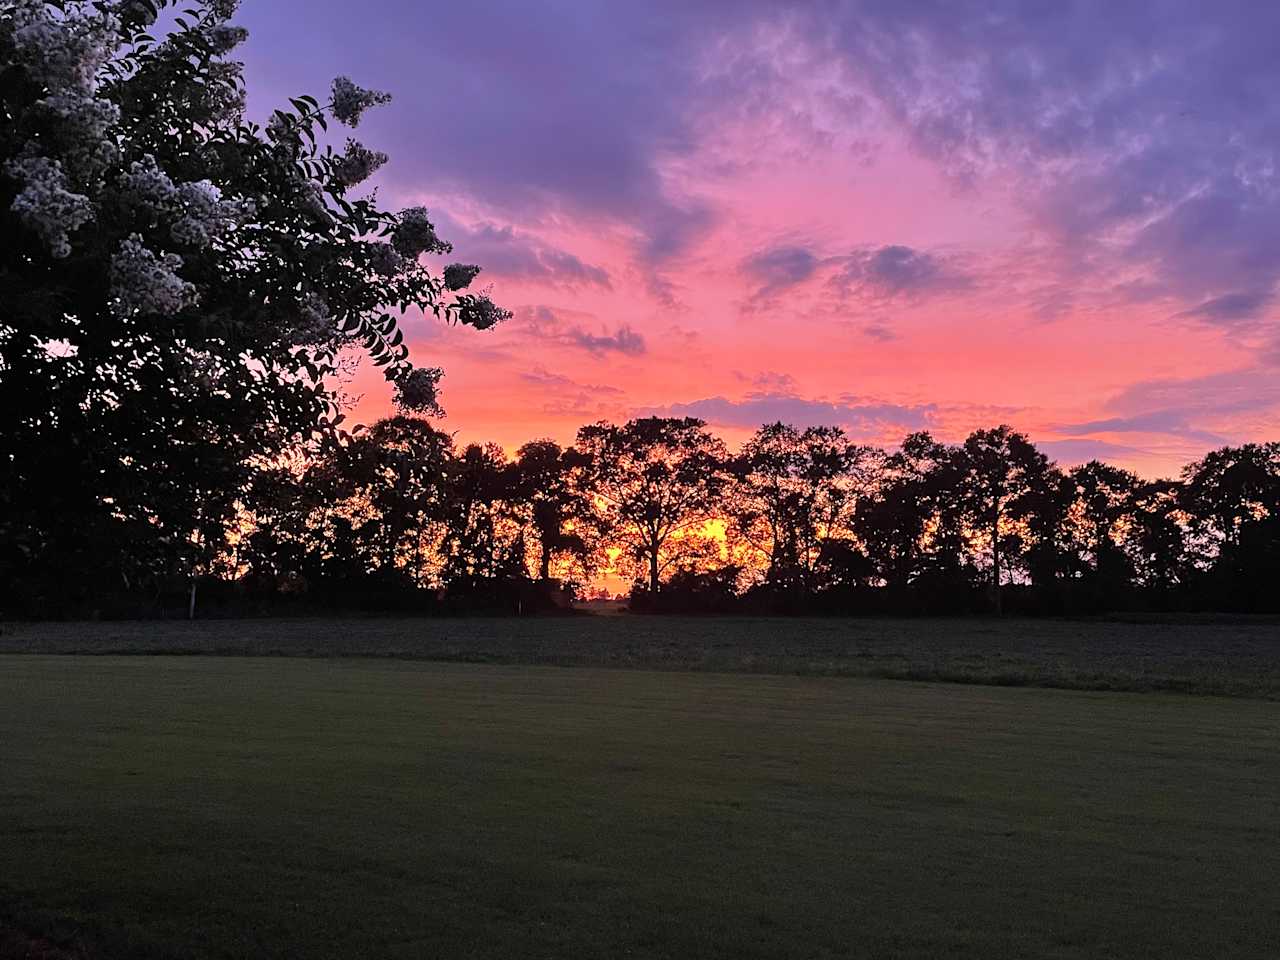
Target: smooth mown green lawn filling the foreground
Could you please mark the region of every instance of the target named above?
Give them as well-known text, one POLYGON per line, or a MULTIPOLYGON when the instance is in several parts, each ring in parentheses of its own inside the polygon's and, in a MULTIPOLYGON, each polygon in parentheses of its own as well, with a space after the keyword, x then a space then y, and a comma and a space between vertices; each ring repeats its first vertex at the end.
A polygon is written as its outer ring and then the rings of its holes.
POLYGON ((0 657, 0 914, 97 956, 1268 957, 1266 700, 0 657))

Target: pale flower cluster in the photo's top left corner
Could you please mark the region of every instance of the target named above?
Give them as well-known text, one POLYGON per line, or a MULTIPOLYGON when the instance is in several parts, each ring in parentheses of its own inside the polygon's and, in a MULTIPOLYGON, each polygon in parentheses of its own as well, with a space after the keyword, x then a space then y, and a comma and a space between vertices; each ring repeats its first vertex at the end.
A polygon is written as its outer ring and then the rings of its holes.
POLYGON ((88 5, 68 5, 55 17, 51 4, 18 0, 10 17, 18 55, 51 91, 92 93, 97 72, 120 42, 120 20, 88 5))

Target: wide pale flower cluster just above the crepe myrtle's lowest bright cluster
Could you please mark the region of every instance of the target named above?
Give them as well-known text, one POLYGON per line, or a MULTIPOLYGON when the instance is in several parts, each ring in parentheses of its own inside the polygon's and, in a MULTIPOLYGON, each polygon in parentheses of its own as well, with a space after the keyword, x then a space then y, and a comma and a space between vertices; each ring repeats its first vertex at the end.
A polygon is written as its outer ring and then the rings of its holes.
POLYGON ((184 247, 207 247, 255 212, 253 201, 223 200, 209 180, 175 184, 150 154, 129 164, 120 177, 120 192, 127 204, 150 211, 156 220, 172 220, 169 236, 184 247))

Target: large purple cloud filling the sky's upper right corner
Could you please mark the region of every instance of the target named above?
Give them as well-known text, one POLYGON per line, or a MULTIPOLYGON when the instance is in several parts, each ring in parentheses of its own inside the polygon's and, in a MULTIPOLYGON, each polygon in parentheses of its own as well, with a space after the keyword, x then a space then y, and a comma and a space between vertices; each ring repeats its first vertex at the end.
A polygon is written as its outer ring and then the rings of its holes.
POLYGON ((1276 5, 886 0, 831 26, 918 148, 1015 173, 1082 264, 1193 303, 1280 274, 1276 5))

